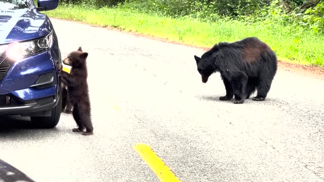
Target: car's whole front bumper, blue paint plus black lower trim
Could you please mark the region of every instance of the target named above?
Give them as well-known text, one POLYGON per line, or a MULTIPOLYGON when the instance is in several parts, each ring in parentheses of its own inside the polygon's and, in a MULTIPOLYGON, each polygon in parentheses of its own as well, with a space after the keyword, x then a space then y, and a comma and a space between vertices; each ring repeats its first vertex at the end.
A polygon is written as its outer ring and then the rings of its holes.
MULTIPOLYGON (((54 36, 56 38, 56 36, 54 36)), ((48 116, 60 98, 58 65, 61 54, 57 40, 42 53, 13 62, 0 60, 0 115, 48 116), (5 69, 6 68, 6 69, 5 69)))

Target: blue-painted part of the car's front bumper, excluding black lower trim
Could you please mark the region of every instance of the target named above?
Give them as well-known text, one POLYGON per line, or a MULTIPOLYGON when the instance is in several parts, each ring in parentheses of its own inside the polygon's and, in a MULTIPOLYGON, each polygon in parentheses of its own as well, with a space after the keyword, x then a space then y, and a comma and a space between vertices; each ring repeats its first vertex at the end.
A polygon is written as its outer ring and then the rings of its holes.
POLYGON ((28 101, 57 94, 58 60, 53 60, 53 51, 49 50, 13 63, 0 81, 0 95, 12 94, 28 101))

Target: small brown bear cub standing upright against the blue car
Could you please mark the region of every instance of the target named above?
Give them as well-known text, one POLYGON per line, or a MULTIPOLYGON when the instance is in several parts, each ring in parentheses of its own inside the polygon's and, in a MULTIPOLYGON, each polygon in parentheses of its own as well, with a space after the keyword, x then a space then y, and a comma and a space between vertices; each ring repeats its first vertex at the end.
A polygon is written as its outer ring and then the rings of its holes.
POLYGON ((77 51, 71 52, 63 63, 71 66, 71 72, 62 71, 61 81, 68 87, 68 97, 73 106, 72 115, 78 126, 73 132, 83 132, 83 135, 93 134, 91 121, 91 105, 88 88, 88 53, 84 53, 79 47, 77 51), (84 131, 86 129, 86 131, 84 131))

